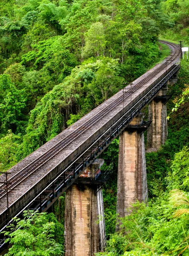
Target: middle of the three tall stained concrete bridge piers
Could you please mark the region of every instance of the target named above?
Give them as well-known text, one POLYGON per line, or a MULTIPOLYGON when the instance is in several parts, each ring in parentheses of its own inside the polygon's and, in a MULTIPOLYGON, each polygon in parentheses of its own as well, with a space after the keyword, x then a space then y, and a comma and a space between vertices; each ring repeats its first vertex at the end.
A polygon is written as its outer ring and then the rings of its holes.
MULTIPOLYGON (((131 212, 128 208, 137 200, 148 201, 144 134, 141 134, 136 125, 140 122, 142 115, 130 123, 136 128, 125 129, 119 137, 116 209, 119 218, 128 215, 131 212)), ((120 230, 120 224, 121 222, 116 226, 116 231, 120 230)))

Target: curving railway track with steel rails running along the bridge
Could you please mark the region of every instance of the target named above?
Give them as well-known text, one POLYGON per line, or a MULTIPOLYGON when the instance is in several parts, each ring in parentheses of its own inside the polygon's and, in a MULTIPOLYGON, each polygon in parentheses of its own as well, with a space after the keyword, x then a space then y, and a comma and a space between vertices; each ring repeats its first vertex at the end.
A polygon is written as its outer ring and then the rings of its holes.
MULTIPOLYGON (((170 45, 171 47, 174 48, 174 55, 172 56, 172 59, 170 59, 170 61, 174 62, 174 60, 176 60, 178 58, 178 55, 180 55, 179 48, 175 44, 168 43, 166 41, 161 41, 161 42, 164 44, 170 45)), ((146 82, 148 82, 154 76, 156 76, 160 71, 164 70, 167 67, 167 65, 169 65, 169 64, 167 64, 166 62, 163 63, 153 73, 151 73, 150 75, 145 77, 139 83, 135 84, 132 87, 132 92, 123 93, 121 96, 119 96, 113 102, 111 102, 109 105, 107 105, 105 108, 103 108, 95 116, 92 116, 90 119, 88 119, 82 125, 80 125, 76 130, 72 131, 69 135, 64 137, 62 140, 58 141, 58 143, 56 143, 51 148, 49 148, 40 157, 37 157, 35 160, 33 160, 31 163, 29 163, 27 166, 25 166, 23 169, 21 169, 15 175, 10 177, 8 179, 8 182, 9 182, 8 192, 11 192, 18 185, 20 185, 20 183, 22 183, 24 180, 29 178, 30 175, 35 173, 41 166, 43 166, 50 159, 55 157, 61 150, 66 148, 70 143, 72 143, 74 140, 76 140, 76 138, 81 136, 81 134, 83 134, 85 131, 87 131, 93 125, 95 125, 97 122, 99 122, 100 119, 102 119, 104 116, 106 116, 110 111, 112 111, 118 105, 122 104, 125 99, 128 99, 129 97, 131 97, 132 93, 136 92, 140 87, 142 87, 142 85, 144 85, 146 82)), ((5 189, 5 185, 1 185, 0 189, 5 189)), ((4 198, 4 196, 6 196, 6 192, 5 191, 0 192, 0 200, 2 198, 4 198)))

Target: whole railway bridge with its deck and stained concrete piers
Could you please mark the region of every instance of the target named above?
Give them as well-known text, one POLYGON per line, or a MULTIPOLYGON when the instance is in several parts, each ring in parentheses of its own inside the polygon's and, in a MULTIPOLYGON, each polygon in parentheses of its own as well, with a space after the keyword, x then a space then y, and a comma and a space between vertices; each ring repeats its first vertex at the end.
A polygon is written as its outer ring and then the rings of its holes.
MULTIPOLYGON (((111 166, 100 173, 103 160, 97 157, 118 135, 117 212, 123 217, 131 203, 148 200, 143 131, 148 128, 149 150, 165 142, 167 87, 177 81, 180 69, 180 48, 162 42, 171 49, 169 58, 0 176, 0 232, 26 209, 47 211, 66 191, 65 255, 92 256, 103 250, 105 224, 103 218, 99 224, 96 220, 103 217, 101 185, 111 166), (143 121, 141 111, 148 104, 150 119, 143 121)), ((4 241, 1 235, 1 252, 4 241)))

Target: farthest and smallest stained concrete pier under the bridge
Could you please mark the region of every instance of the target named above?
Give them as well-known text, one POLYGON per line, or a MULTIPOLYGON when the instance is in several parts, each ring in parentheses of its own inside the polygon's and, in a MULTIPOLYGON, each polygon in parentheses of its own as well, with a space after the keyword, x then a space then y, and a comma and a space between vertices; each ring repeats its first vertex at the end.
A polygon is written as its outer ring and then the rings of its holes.
POLYGON ((166 84, 148 106, 148 115, 152 119, 151 126, 147 131, 148 151, 156 151, 165 144, 167 139, 167 109, 166 100, 163 98, 167 90, 168 85, 166 84))

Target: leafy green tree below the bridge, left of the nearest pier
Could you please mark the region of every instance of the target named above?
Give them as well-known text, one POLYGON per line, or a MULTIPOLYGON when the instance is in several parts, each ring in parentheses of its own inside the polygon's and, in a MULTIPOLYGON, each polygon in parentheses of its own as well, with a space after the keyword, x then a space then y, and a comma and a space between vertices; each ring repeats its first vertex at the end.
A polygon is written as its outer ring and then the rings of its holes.
POLYGON ((15 231, 5 232, 9 236, 6 242, 12 244, 6 256, 63 255, 63 246, 55 241, 57 223, 50 221, 47 213, 24 211, 23 216, 22 220, 15 218, 16 226, 11 225, 15 231))

